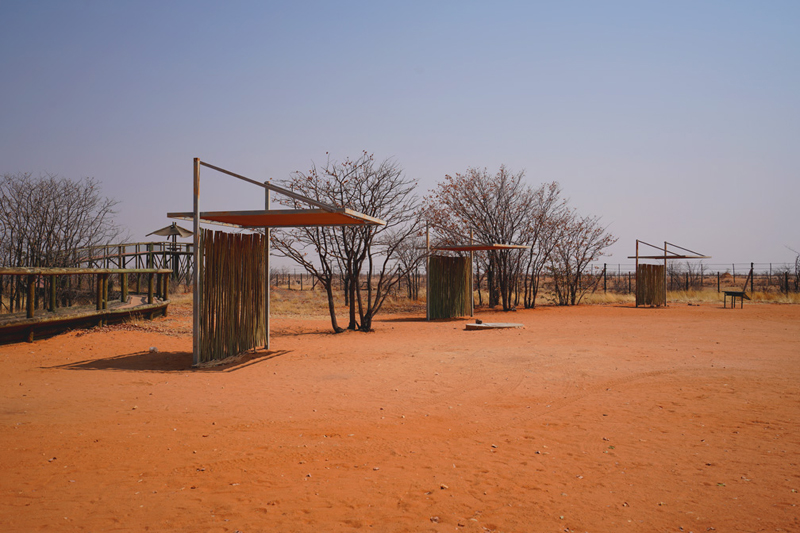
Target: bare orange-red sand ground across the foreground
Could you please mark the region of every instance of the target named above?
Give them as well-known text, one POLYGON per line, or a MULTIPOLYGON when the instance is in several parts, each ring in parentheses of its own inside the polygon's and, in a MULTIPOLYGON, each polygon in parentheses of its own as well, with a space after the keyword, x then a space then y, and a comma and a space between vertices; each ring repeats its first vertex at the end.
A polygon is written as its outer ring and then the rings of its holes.
POLYGON ((2 346, 0 530, 800 531, 800 306, 478 316, 2 346))

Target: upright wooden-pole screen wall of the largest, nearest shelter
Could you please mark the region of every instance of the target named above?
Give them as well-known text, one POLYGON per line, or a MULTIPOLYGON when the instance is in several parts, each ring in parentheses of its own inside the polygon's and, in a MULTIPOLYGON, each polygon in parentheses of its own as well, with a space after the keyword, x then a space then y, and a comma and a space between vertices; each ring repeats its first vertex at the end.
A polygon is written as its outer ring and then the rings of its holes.
POLYGON ((200 232, 200 362, 266 343, 264 236, 200 232))

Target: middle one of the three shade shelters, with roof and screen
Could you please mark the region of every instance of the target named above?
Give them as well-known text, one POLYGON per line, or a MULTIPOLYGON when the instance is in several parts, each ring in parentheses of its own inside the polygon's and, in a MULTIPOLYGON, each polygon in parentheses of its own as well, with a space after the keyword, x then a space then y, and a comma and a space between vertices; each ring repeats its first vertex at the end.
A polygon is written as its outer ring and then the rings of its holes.
MULTIPOLYGON (((427 234, 427 319, 456 318, 474 316, 472 266, 475 252, 497 250, 520 250, 530 246, 517 244, 455 244, 430 246, 430 232, 427 234), (469 252, 469 256, 450 257, 430 252, 469 252)), ((470 241, 472 234, 470 232, 470 241)))

